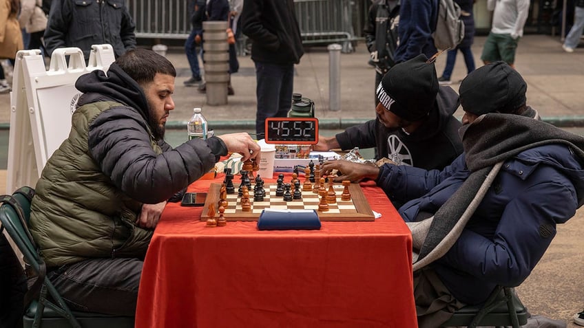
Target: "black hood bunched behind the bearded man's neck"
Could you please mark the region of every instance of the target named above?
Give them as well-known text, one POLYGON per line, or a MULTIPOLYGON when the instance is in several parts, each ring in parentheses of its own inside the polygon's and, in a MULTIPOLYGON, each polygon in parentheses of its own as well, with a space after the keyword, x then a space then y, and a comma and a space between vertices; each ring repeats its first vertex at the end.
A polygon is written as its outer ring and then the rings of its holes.
POLYGON ((97 101, 122 102, 123 105, 136 109, 146 122, 149 122, 148 102, 144 91, 116 63, 110 65, 107 74, 96 69, 79 76, 75 87, 83 92, 83 96, 77 102, 78 107, 97 101))

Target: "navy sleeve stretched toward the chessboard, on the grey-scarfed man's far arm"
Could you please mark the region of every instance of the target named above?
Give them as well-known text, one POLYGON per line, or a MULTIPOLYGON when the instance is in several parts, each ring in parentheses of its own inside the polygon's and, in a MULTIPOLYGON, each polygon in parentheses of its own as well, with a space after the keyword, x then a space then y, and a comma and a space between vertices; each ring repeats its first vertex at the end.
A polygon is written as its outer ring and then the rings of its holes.
POLYGON ((404 204, 426 195, 432 188, 465 167, 464 154, 441 171, 428 171, 409 165, 384 164, 379 168, 376 182, 389 199, 404 204))

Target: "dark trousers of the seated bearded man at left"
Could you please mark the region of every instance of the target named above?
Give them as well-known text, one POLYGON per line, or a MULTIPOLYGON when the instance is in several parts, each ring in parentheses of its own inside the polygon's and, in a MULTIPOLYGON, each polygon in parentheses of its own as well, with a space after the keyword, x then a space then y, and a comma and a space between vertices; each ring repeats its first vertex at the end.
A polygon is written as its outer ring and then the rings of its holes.
POLYGON ((47 276, 72 310, 134 316, 143 264, 139 259, 90 259, 47 276))

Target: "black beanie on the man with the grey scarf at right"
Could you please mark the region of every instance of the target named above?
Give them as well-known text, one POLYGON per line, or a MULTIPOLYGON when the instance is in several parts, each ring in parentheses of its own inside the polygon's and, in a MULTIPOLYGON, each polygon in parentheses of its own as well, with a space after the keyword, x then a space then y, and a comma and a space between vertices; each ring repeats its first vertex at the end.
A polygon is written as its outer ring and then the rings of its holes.
POLYGON ((525 80, 502 61, 475 69, 459 87, 460 105, 464 111, 481 116, 499 111, 512 113, 525 104, 525 80))

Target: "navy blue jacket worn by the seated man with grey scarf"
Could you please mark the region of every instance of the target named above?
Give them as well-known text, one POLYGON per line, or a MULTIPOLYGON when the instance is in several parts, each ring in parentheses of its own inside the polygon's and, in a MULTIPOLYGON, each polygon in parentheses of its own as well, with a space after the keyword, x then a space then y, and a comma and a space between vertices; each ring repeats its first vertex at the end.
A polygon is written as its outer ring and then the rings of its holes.
MULTIPOLYGON (((465 163, 463 153, 442 171, 386 164, 377 184, 390 197, 413 199, 399 214, 415 221, 455 193, 470 175, 465 163)), ((519 153, 505 161, 455 245, 432 268, 468 304, 486 300, 494 285, 520 285, 550 245, 556 224, 574 216, 583 190, 584 170, 567 146, 519 153)))

